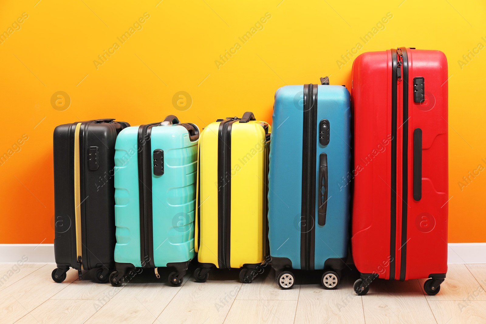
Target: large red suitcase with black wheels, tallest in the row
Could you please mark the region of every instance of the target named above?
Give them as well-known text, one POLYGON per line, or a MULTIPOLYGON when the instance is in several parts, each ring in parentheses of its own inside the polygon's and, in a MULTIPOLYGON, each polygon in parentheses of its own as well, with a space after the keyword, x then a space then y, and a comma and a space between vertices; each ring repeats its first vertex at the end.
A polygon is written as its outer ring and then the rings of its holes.
POLYGON ((447 272, 447 59, 441 51, 367 52, 353 63, 352 253, 361 279, 431 278, 447 272))

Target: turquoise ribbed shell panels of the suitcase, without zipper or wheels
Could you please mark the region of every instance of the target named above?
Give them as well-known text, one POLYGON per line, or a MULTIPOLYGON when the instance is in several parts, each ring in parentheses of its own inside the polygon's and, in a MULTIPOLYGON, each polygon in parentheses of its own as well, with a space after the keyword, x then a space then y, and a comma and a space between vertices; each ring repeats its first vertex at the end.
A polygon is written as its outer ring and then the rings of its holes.
MULTIPOLYGON (((139 127, 124 129, 115 152, 115 261, 141 267, 139 127)), ((180 125, 154 126, 151 152, 164 151, 164 174, 152 165, 153 250, 156 267, 187 262, 194 257, 194 210, 197 140, 180 125)), ((151 163, 152 164, 152 163, 151 163)))

